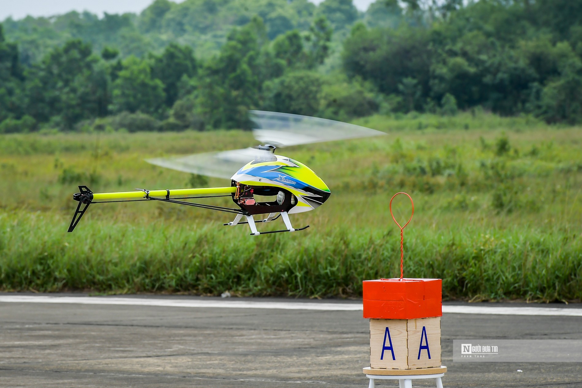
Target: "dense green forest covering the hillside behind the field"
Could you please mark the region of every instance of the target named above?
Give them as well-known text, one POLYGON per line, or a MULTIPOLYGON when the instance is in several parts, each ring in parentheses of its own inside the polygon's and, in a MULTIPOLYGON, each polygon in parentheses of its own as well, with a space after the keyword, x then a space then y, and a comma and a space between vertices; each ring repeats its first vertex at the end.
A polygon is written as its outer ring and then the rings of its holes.
POLYGON ((579 0, 155 0, 0 27, 0 133, 248 128, 481 107, 582 120, 579 0))

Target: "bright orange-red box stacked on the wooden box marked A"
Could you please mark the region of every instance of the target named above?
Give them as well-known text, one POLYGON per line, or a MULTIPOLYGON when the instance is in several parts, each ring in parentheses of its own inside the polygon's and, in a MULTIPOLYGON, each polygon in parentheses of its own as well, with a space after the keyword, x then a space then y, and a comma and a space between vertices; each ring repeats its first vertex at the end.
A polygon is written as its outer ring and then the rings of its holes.
POLYGON ((442 316, 442 279, 363 281, 364 318, 416 319, 442 316))

